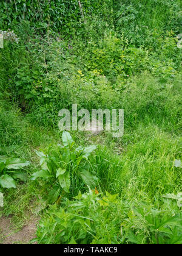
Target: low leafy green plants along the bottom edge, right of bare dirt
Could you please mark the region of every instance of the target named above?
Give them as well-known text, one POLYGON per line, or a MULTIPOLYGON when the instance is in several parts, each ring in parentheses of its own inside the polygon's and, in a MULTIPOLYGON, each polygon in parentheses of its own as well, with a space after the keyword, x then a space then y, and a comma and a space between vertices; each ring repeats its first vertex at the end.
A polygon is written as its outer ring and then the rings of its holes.
POLYGON ((135 207, 121 201, 117 194, 106 196, 94 191, 81 194, 75 200, 51 207, 40 221, 38 243, 134 243, 180 244, 182 216, 171 216, 141 204, 135 207))

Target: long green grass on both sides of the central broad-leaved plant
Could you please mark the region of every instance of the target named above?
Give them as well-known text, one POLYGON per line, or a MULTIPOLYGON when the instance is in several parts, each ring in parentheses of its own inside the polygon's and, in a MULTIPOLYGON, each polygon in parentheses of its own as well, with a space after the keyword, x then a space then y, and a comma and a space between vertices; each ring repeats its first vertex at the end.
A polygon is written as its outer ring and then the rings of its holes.
MULTIPOLYGON (((107 132, 91 137, 84 132, 72 133, 76 142, 83 146, 98 144, 89 164, 98 177, 99 193, 118 194, 127 204, 127 211, 129 205, 146 204, 168 214, 178 213, 175 204, 166 203, 161 196, 179 193, 182 185, 180 169, 174 167, 174 160, 181 158, 182 142, 179 81, 177 77, 172 83, 160 84, 148 74, 130 80, 120 102, 125 109, 126 125, 124 136, 119 140, 107 132)), ((33 126, 29 116, 23 116, 15 104, 10 107, 8 102, 1 101, 0 114, 1 144, 7 147, 3 153, 31 160, 32 165, 27 168, 30 177, 38 168, 34 150, 60 143, 61 133, 58 128, 33 126)), ((4 191, 1 215, 13 215, 16 227, 22 227, 35 214, 43 195, 44 186, 30 180, 19 184, 16 190, 4 191)), ((39 214, 44 219, 44 212, 39 214)), ((112 218, 117 219, 116 215, 112 218)), ((123 232, 129 232, 129 227, 123 232)), ((141 227, 141 235, 144 229, 147 227, 141 227)))

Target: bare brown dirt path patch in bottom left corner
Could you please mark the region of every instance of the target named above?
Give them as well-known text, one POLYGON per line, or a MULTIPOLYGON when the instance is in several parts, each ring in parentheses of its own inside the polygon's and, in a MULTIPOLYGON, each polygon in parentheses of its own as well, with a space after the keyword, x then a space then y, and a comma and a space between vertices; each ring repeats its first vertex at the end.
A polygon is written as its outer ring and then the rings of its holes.
POLYGON ((35 238, 38 219, 30 219, 21 230, 16 232, 11 223, 11 218, 0 218, 0 244, 28 244, 35 238))

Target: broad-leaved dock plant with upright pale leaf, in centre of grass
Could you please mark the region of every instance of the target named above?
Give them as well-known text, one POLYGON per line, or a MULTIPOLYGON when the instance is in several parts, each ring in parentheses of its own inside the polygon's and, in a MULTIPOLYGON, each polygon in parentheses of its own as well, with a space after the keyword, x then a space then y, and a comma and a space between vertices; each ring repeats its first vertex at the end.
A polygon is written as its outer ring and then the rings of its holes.
POLYGON ((62 143, 56 151, 49 151, 47 154, 36 152, 40 157, 41 171, 32 175, 32 180, 42 178, 47 181, 53 189, 49 193, 49 202, 57 201, 61 190, 72 193, 78 190, 79 180, 90 188, 96 186, 97 179, 89 172, 87 160, 89 155, 96 149, 96 146, 75 147, 69 132, 62 133, 62 143), (72 185, 71 185, 72 184, 72 185), (53 196, 53 197, 52 197, 53 196))

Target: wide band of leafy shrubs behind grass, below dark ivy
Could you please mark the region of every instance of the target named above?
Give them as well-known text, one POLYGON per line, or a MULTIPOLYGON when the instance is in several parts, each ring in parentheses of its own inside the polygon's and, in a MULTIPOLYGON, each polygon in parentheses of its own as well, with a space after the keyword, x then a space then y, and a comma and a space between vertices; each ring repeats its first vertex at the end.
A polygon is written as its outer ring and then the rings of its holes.
POLYGON ((6 45, 0 55, 0 85, 30 113, 32 121, 57 125, 58 111, 71 110, 72 104, 87 109, 116 108, 130 79, 142 71, 160 77, 162 83, 174 80, 180 68, 180 49, 173 34, 161 45, 161 51, 153 53, 130 47, 126 38, 110 33, 97 44, 90 43, 84 52, 75 44, 67 49, 66 41, 53 39, 50 44, 37 38, 26 46, 6 45))

